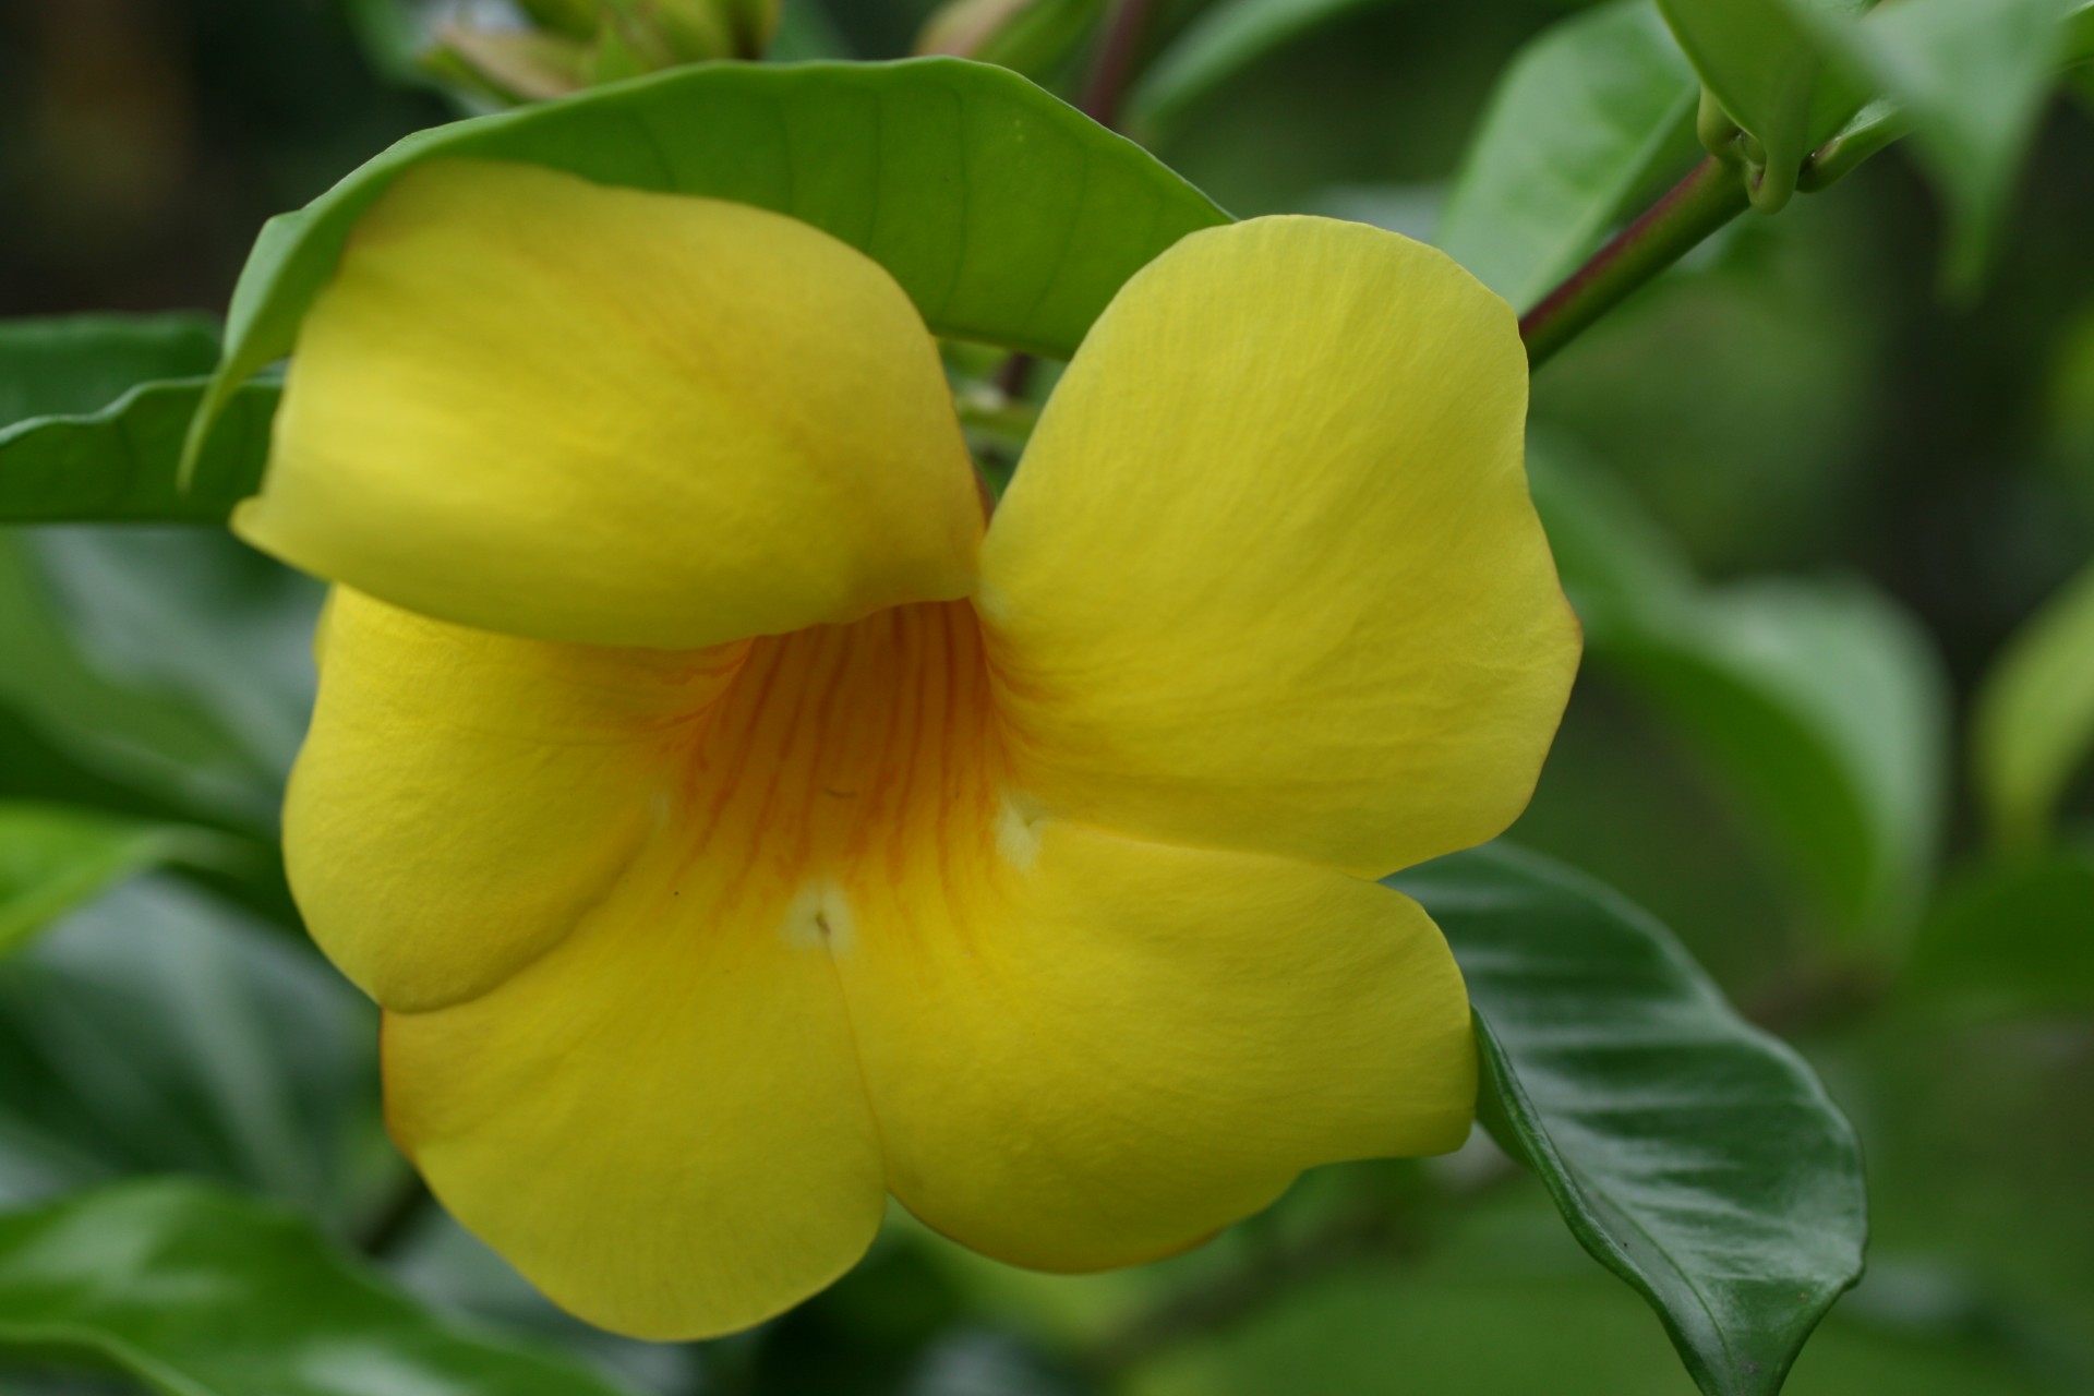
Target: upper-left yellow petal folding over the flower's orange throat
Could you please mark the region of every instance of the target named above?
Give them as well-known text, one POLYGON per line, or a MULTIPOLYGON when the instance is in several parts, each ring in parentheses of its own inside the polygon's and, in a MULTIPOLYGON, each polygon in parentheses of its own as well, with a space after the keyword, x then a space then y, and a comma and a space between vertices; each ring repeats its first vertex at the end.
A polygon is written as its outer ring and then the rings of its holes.
POLYGON ((431 163, 358 224, 235 530, 425 615, 706 647, 967 592, 938 354, 792 218, 431 163))

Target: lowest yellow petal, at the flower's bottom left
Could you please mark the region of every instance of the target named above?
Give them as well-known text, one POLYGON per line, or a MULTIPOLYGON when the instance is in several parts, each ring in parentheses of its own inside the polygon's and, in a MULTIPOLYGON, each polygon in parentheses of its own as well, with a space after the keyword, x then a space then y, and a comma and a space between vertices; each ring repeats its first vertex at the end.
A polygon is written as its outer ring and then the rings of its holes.
POLYGON ((513 980, 385 1019, 394 1139, 582 1319, 710 1337, 815 1293, 886 1210, 827 948, 651 856, 513 980))

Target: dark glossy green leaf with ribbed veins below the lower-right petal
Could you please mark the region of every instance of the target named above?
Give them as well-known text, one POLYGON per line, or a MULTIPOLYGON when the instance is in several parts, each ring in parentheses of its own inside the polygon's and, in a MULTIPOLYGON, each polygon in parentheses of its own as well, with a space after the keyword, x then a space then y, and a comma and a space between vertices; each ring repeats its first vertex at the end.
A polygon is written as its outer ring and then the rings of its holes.
POLYGON ((1483 1120, 1594 1260, 1642 1293, 1709 1396, 1772 1396, 1862 1275, 1853 1130, 1671 933, 1531 854, 1393 879, 1447 931, 1483 1120))

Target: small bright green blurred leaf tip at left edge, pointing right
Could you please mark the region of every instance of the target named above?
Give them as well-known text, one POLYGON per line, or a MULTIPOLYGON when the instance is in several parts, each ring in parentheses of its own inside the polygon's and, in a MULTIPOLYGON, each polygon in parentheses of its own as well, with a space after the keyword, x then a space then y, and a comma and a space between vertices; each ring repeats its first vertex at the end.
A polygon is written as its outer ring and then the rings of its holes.
POLYGON ((128 877, 222 862, 235 848, 207 829, 0 800, 0 956, 128 877))

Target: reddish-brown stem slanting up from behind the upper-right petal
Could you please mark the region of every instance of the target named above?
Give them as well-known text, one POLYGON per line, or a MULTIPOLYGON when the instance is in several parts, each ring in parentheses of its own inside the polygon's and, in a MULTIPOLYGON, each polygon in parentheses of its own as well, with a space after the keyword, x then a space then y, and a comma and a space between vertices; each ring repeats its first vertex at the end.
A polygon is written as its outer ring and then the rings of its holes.
POLYGON ((1673 184, 1642 218, 1617 232, 1585 266, 1520 318, 1527 362, 1539 368, 1631 291, 1748 207, 1751 199, 1738 172, 1713 155, 1702 159, 1688 178, 1673 184))

